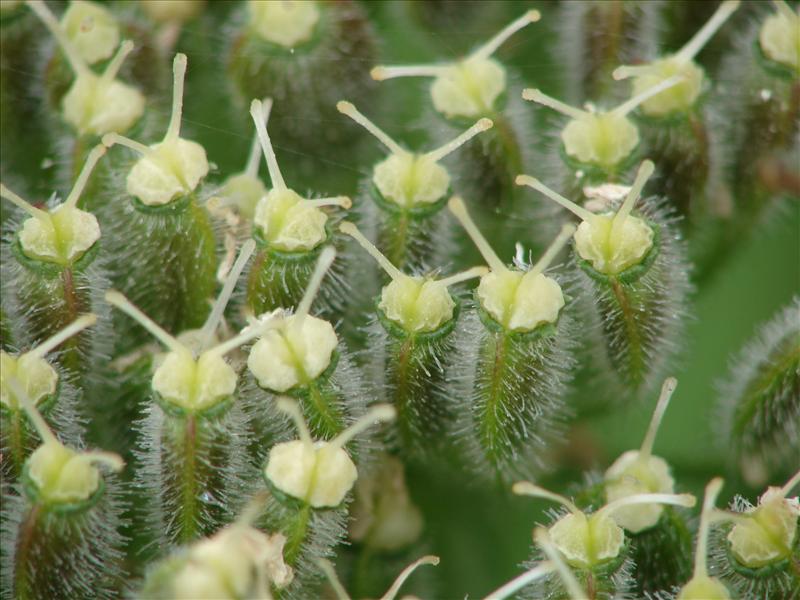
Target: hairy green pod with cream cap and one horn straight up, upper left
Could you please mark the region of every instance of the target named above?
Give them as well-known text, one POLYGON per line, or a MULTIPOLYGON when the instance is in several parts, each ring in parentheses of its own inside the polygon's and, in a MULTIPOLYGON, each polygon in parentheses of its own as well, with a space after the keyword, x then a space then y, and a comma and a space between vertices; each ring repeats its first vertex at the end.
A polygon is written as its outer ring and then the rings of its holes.
MULTIPOLYGON (((206 152, 180 137, 185 55, 175 55, 173 72, 172 114, 164 139, 145 146, 110 133, 103 143, 140 155, 126 177, 129 199, 123 215, 108 232, 117 267, 113 283, 162 327, 177 332, 205 320, 216 287, 217 257, 211 218, 200 204, 200 183, 209 171, 206 152)), ((126 340, 137 339, 130 330, 126 333, 126 340)))

